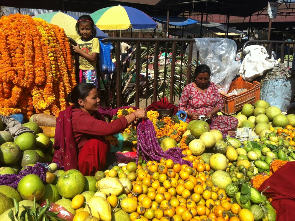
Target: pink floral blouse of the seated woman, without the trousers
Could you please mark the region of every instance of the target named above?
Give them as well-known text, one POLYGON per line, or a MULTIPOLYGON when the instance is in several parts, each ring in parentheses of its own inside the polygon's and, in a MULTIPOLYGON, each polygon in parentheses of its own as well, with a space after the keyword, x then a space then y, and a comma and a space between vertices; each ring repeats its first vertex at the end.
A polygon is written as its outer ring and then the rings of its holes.
POLYGON ((221 110, 224 102, 213 82, 208 82, 209 87, 205 93, 198 92, 194 83, 190 83, 183 88, 178 104, 178 110, 189 110, 191 113, 207 115, 214 107, 221 110))

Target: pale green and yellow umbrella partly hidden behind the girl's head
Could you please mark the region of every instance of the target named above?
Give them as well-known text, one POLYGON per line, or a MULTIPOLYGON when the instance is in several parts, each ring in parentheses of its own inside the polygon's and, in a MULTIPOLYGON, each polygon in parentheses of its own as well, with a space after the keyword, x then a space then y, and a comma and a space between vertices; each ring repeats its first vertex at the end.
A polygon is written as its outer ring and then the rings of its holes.
MULTIPOLYGON (((33 16, 33 18, 41 18, 45 20, 46 22, 50 24, 55 24, 60 28, 63 28, 65 30, 65 34, 67 37, 77 39, 79 36, 76 32, 76 23, 78 20, 78 17, 71 14, 65 14, 63 12, 51 12, 51 13, 44 13, 33 16)), ((109 37, 107 34, 105 34, 103 31, 99 30, 99 28, 96 27, 96 37, 97 38, 107 38, 109 37)))

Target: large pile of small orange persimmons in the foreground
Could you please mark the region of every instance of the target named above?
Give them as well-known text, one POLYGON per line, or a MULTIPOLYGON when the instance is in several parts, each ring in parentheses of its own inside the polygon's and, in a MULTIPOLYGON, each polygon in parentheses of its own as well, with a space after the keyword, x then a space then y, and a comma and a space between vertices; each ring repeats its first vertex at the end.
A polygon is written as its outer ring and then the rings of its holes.
POLYGON ((138 166, 133 189, 127 194, 131 221, 238 221, 253 217, 250 210, 232 203, 224 189, 210 180, 210 166, 184 150, 188 165, 171 159, 138 166), (135 199, 135 200, 134 200, 135 199))

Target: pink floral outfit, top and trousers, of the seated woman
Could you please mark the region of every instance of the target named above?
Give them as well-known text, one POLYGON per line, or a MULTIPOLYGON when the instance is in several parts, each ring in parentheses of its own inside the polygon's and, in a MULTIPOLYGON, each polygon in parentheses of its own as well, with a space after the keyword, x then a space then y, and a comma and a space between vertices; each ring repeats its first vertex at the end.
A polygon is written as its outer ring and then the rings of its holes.
MULTIPOLYGON (((183 88, 181 98, 179 100, 178 110, 189 110, 191 113, 205 115, 217 107, 221 110, 224 107, 224 102, 220 96, 218 88, 213 82, 209 82, 209 87, 205 93, 199 92, 194 83, 190 83, 183 88)), ((186 122, 191 121, 191 118, 186 118, 186 122)), ((221 132, 227 132, 237 127, 239 121, 235 117, 216 116, 207 121, 211 129, 217 129, 221 132)))

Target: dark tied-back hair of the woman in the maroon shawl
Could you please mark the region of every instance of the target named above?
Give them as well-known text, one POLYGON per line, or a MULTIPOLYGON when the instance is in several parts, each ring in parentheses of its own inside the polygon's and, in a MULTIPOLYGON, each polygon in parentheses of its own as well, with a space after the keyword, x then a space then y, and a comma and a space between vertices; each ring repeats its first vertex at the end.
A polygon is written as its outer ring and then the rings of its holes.
POLYGON ((67 100, 74 104, 74 108, 80 108, 78 100, 84 100, 94 88, 96 89, 93 84, 79 83, 73 88, 72 92, 68 94, 67 100))

